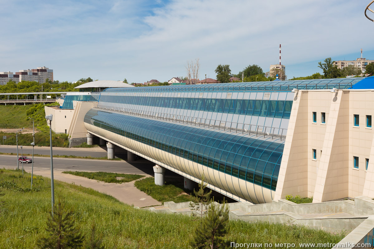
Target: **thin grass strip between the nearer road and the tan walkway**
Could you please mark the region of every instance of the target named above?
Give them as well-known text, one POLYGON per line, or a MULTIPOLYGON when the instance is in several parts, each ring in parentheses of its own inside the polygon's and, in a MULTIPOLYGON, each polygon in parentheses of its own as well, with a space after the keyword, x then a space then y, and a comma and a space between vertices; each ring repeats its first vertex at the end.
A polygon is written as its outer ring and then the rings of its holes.
POLYGON ((94 179, 98 181, 104 181, 105 183, 128 183, 130 181, 138 180, 143 177, 143 175, 130 175, 130 174, 101 172, 101 171, 99 172, 64 171, 62 173, 77 175, 77 176, 86 177, 86 178, 94 179), (123 179, 117 180, 116 177, 123 177, 123 179))

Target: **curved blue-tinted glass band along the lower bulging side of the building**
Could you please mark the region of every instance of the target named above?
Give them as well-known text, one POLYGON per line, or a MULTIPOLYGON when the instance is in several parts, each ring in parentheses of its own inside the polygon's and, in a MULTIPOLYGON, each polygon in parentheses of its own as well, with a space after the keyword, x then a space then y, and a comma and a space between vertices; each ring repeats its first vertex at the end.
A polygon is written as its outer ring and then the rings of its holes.
POLYGON ((91 109, 85 122, 276 189, 284 144, 91 109))

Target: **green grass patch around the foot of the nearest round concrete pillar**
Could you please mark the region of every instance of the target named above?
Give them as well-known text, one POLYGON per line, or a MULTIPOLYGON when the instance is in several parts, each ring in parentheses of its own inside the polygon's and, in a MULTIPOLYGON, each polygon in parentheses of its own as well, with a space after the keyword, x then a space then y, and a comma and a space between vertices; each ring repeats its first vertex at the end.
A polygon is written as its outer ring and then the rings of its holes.
MULTIPOLYGON (((174 183, 175 184, 175 183, 174 183)), ((176 186, 171 182, 166 181, 163 186, 158 186, 154 184, 154 177, 144 178, 139 181, 135 181, 135 187, 140 191, 148 194, 153 199, 159 202, 188 202, 190 201, 190 196, 184 194, 183 186, 176 186)), ((183 184, 183 183, 182 183, 183 184)))

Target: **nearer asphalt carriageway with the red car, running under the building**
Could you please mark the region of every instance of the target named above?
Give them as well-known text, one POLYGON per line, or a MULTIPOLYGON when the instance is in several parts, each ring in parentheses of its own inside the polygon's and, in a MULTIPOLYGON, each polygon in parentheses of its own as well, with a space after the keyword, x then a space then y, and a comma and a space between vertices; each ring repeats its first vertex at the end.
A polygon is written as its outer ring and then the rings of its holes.
MULTIPOLYGON (((15 155, 0 155, 0 168, 17 167, 15 155)), ((127 174, 149 174, 154 175, 154 163, 145 159, 135 162, 126 161, 107 161, 91 159, 74 159, 74 158, 53 158, 53 168, 70 171, 104 171, 127 174)), ((22 164, 19 164, 22 168, 22 164)), ((34 157, 35 168, 50 168, 50 158, 34 157)), ((31 171, 31 164, 24 163, 24 169, 31 171)))

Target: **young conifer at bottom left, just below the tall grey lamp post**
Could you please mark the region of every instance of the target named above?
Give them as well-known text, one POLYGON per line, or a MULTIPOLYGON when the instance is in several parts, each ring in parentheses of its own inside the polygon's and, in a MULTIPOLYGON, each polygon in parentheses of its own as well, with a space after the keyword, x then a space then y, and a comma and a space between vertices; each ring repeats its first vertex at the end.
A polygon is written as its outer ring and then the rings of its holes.
POLYGON ((42 249, 73 249, 80 248, 83 244, 83 236, 80 227, 76 225, 73 210, 65 210, 63 200, 53 208, 47 220, 47 236, 39 239, 38 245, 42 249))

